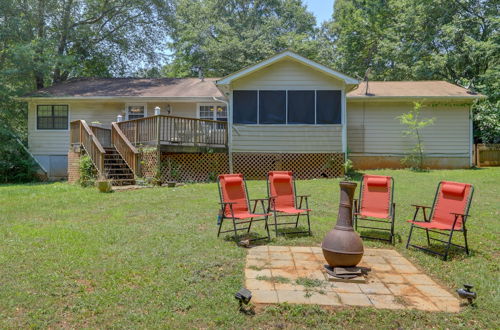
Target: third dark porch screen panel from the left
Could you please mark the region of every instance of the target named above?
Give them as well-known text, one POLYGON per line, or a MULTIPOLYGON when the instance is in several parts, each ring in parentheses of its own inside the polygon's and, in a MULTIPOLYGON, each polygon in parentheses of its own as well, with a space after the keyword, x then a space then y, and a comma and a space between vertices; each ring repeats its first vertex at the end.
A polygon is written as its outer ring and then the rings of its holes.
POLYGON ((288 91, 288 124, 314 124, 314 91, 288 91))

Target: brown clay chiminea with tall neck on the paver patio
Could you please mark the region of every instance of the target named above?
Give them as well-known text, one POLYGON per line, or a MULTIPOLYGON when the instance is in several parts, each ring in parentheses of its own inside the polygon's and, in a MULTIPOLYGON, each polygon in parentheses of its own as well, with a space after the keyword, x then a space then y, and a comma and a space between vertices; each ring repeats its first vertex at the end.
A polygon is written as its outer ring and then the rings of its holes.
POLYGON ((340 182, 337 224, 326 234, 321 245, 331 267, 354 267, 363 257, 363 241, 352 228, 352 200, 356 186, 355 182, 340 182))

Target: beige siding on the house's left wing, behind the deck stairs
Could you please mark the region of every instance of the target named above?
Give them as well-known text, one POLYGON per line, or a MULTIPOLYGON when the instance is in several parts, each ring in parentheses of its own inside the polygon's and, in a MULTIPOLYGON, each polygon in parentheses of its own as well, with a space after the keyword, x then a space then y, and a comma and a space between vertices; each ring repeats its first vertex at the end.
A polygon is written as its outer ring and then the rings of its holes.
MULTIPOLYGON (((128 102, 142 104, 145 102, 128 102)), ((118 115, 125 115, 125 102, 98 102, 98 101, 39 101, 29 104, 28 111, 28 145, 35 155, 66 155, 69 148, 69 129, 66 130, 37 130, 37 104, 67 104, 69 106, 69 121, 83 119, 87 123, 100 122, 105 126, 116 121, 118 115)), ((196 118, 197 103, 195 102, 148 102, 147 115, 154 114, 154 108, 159 106, 161 113, 166 115, 166 106, 170 104, 172 115, 196 118)), ((124 116, 125 117, 125 116, 124 116)))

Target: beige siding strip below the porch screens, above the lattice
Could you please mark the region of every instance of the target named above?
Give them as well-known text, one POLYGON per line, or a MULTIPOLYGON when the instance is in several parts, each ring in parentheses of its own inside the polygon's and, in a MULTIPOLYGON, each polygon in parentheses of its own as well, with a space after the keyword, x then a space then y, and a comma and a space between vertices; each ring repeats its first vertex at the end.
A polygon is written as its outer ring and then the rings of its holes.
POLYGON ((233 125, 233 152, 342 152, 342 126, 233 125))

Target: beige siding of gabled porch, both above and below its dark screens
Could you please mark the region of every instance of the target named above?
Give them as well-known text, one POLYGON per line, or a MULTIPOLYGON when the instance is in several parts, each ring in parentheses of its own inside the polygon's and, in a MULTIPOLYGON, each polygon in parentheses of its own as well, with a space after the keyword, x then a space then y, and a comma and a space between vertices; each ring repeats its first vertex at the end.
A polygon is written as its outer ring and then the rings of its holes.
MULTIPOLYGON (((344 83, 293 60, 284 60, 232 83, 233 90, 344 90, 344 83)), ((306 109, 305 111, 314 111, 306 109)), ((234 124, 233 152, 342 152, 342 125, 234 124)))

